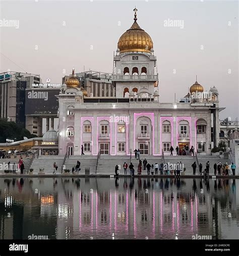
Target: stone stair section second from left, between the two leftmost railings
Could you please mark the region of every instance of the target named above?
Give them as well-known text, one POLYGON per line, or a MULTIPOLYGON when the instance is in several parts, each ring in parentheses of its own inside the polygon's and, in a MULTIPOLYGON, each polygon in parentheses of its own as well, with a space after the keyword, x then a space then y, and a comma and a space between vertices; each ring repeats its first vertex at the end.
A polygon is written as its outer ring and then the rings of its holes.
POLYGON ((39 173, 39 168, 44 168, 45 174, 53 173, 53 163, 56 162, 58 169, 56 174, 62 173, 62 165, 63 165, 64 156, 39 156, 38 158, 34 158, 31 168, 33 169, 33 175, 39 173))

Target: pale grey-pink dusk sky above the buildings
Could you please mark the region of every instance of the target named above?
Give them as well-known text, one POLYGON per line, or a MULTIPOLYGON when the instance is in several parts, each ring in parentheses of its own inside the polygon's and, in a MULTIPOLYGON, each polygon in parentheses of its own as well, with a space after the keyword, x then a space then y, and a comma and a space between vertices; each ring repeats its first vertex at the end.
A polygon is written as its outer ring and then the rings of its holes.
POLYGON ((120 36, 134 22, 152 38, 161 102, 184 97, 197 80, 219 92, 220 118, 238 117, 237 1, 0 1, 0 72, 61 83, 72 72, 112 73, 120 36), (179 20, 181 26, 166 26, 179 20), (19 23, 17 23, 19 22, 19 23), (1 23, 0 23, 1 24, 1 23), (5 23, 6 24, 6 23, 5 23))

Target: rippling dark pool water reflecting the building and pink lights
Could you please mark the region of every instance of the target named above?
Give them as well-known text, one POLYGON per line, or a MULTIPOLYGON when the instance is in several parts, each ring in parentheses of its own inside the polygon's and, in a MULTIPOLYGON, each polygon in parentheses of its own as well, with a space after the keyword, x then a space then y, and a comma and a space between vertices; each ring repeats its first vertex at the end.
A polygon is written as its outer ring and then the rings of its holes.
POLYGON ((0 179, 0 238, 238 239, 238 180, 0 179))

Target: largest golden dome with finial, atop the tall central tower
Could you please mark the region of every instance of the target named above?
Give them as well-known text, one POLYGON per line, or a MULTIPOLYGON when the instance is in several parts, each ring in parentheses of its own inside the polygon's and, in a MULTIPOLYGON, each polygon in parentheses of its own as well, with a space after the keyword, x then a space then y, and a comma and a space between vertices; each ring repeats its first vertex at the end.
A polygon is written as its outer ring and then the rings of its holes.
POLYGON ((118 40, 118 49, 121 53, 126 52, 145 52, 150 53, 153 49, 153 41, 148 33, 146 33, 136 22, 137 9, 135 11, 135 22, 118 40))

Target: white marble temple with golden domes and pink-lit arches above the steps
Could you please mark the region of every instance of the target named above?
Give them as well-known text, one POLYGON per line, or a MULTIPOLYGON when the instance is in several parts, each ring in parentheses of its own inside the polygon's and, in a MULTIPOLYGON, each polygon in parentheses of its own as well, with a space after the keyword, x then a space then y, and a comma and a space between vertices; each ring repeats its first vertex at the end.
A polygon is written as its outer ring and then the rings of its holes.
POLYGON ((88 97, 73 71, 57 96, 59 154, 80 155, 81 145, 86 155, 97 155, 99 150, 129 155, 136 148, 144 155, 161 155, 170 146, 175 153, 176 146, 186 145, 209 154, 219 143, 223 108, 219 108, 217 89, 206 92, 196 81, 180 101, 163 103, 156 62, 153 41, 139 27, 135 12, 134 23, 118 40, 113 58, 114 93, 88 97))

